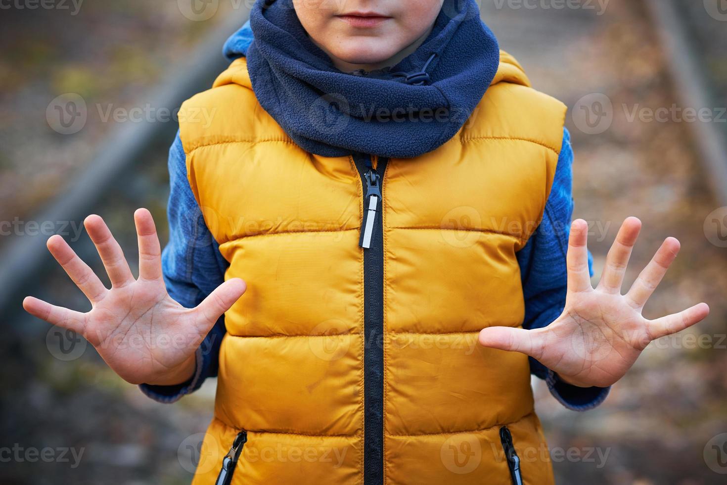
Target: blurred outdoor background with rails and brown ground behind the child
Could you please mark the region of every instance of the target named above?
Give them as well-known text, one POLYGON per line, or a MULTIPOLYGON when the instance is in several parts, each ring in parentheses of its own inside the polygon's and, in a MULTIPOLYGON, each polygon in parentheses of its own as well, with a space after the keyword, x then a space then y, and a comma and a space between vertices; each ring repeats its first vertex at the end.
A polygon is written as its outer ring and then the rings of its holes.
MULTIPOLYGON (((667 236, 682 249, 647 318, 706 301, 587 413, 534 381, 559 484, 727 483, 727 1, 483 0, 534 87, 569 106, 575 217, 598 273, 622 220, 643 221, 627 282, 667 236)), ((244 0, 0 4, 0 483, 185 484, 214 380, 174 405, 116 377, 91 345, 23 313, 33 294, 88 310, 45 249, 102 215, 132 268, 132 213, 166 241, 174 110, 225 68, 244 0), (33 451, 35 450, 35 451, 33 451)))

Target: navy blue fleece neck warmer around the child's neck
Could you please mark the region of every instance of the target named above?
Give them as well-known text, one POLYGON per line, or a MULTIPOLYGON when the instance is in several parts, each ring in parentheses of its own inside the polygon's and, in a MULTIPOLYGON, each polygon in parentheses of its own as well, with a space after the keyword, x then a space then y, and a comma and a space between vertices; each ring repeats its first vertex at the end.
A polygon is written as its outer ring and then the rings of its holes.
POLYGON ((257 100, 305 151, 410 158, 465 124, 497 72, 475 0, 445 0, 432 32, 392 68, 344 73, 310 40, 292 0, 257 0, 247 65, 257 100))

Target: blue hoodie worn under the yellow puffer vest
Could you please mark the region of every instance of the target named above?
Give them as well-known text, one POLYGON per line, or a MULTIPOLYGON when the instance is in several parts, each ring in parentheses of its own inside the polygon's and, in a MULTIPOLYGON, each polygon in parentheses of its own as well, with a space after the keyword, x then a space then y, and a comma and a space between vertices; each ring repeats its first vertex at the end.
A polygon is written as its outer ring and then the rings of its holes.
MULTIPOLYGON (((244 56, 252 41, 252 29, 247 22, 225 43, 224 55, 228 59, 244 56)), ((565 306, 566 251, 574 207, 571 189, 573 158, 570 135, 564 129, 563 146, 542 222, 517 254, 525 299, 525 329, 547 326, 561 315, 565 306)), ((194 308, 225 281, 229 263, 220 254, 217 241, 206 227, 189 186, 179 133, 169 150, 169 179, 169 243, 162 252, 164 281, 174 300, 187 308, 194 308)), ((588 267, 593 276, 590 252, 588 267)), ((197 350, 196 372, 188 382, 172 386, 142 384, 142 392, 156 401, 171 403, 200 388, 207 377, 217 376, 217 359, 224 335, 222 316, 197 350)), ((593 409, 606 399, 611 389, 579 388, 563 382, 557 374, 533 358, 530 358, 530 363, 531 372, 544 379, 553 396, 574 411, 593 409)))

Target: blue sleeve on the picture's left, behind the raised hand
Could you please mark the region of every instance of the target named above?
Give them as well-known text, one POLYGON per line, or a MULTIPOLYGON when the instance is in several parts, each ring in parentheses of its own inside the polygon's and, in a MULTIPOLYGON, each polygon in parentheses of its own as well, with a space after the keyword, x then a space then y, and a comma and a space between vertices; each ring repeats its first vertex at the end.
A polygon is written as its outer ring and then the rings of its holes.
MULTIPOLYGON (((169 242, 161 252, 164 284, 169 296, 186 308, 194 308, 225 281, 229 263, 220 254, 209 232, 187 179, 187 164, 179 133, 169 149, 169 242)), ((196 351, 193 377, 179 385, 148 385, 140 388, 150 398, 172 403, 201 387, 207 377, 217 375, 220 343, 225 335, 221 316, 196 351)))

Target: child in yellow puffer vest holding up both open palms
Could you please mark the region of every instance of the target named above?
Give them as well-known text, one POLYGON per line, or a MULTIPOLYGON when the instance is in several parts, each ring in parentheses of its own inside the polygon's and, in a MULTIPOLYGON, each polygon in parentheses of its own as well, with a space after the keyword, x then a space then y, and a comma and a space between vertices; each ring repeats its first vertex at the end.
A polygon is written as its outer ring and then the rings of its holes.
POLYGON ((111 289, 53 236, 93 308, 23 302, 159 401, 217 375, 194 483, 552 484, 531 372, 591 409, 707 316, 641 316, 673 238, 621 294, 634 217, 593 289, 566 108, 474 0, 257 1, 225 52, 182 106, 212 124, 180 117, 161 257, 145 209, 138 279, 91 215, 111 289))

